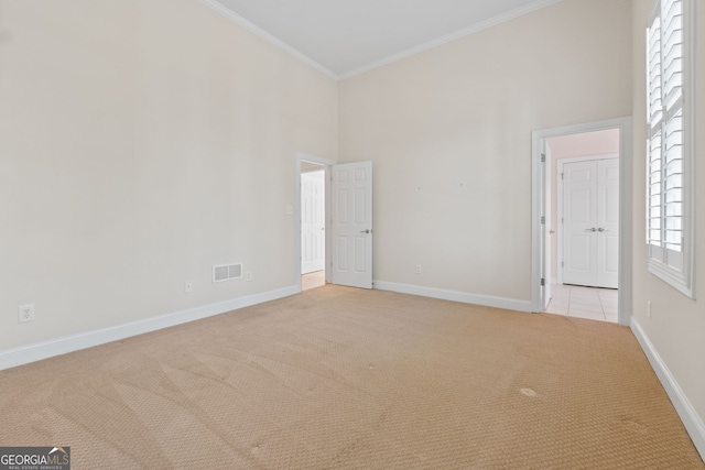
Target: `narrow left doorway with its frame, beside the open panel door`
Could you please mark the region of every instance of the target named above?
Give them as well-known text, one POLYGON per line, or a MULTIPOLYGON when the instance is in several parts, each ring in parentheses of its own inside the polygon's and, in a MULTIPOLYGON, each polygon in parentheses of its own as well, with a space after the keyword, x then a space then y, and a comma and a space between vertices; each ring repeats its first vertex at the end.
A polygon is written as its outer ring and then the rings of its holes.
POLYGON ((326 166, 302 160, 301 289, 326 284, 326 166))

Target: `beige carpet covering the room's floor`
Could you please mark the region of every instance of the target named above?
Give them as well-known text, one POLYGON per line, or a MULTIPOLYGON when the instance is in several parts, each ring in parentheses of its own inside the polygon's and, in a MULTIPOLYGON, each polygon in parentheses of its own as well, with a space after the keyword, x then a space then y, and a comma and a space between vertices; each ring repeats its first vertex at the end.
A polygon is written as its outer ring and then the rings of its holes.
POLYGON ((627 328, 330 285, 0 372, 0 417, 74 469, 705 469, 627 328))

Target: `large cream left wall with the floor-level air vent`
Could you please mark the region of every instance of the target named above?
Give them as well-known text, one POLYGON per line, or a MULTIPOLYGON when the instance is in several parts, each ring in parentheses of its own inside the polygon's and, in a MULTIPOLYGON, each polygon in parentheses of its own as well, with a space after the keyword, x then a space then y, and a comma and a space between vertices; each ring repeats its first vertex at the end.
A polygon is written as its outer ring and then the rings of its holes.
POLYGON ((0 352, 296 285, 335 81, 196 0, 0 0, 0 352))

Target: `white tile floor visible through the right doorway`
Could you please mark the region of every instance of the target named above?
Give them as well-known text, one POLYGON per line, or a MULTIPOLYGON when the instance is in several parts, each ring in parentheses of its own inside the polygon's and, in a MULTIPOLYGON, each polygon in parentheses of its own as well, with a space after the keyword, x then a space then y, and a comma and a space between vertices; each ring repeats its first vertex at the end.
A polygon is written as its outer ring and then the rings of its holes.
POLYGON ((553 284, 545 313, 616 324, 619 323, 617 299, 618 291, 612 288, 553 284))

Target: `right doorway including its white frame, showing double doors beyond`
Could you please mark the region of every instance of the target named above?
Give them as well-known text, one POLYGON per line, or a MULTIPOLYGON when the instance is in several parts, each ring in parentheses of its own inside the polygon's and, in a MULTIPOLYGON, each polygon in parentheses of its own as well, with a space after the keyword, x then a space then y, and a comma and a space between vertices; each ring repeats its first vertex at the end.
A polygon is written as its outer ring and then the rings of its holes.
POLYGON ((532 141, 532 310, 553 298, 554 313, 628 325, 631 119, 535 131, 532 141))

